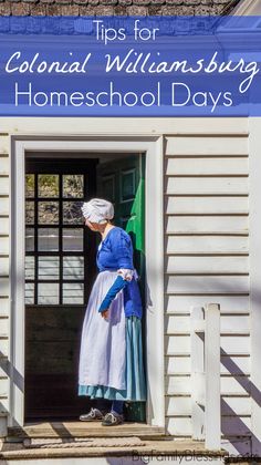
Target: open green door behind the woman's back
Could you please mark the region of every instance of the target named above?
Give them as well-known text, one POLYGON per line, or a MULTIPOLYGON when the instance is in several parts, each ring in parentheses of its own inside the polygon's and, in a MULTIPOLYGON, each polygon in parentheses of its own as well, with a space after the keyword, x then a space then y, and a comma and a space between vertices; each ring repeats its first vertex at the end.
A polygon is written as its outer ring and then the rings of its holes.
MULTIPOLYGON (((140 292, 145 303, 145 157, 142 154, 125 155, 97 165, 97 197, 114 204, 116 226, 124 228, 134 245, 134 266, 140 276, 140 292)), ((145 308, 145 307, 144 307, 145 308)), ((143 318, 143 333, 145 316, 143 318)), ((145 338, 143 338, 145 341, 145 338)), ((145 353, 145 347, 144 347, 145 353)), ((145 403, 126 405, 128 421, 144 422, 145 403)))

